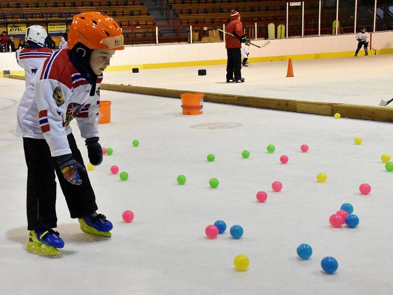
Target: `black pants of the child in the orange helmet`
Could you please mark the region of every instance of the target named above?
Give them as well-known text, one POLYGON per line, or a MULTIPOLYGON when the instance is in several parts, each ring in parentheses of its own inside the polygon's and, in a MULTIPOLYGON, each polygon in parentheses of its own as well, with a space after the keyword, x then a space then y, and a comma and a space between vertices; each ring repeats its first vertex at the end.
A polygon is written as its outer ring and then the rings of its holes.
MULTIPOLYGON (((67 138, 72 156, 84 165, 74 136, 70 134, 67 138)), ((80 173, 81 185, 71 184, 63 177, 45 139, 24 137, 23 148, 28 166, 28 230, 57 227, 55 171, 71 218, 81 218, 97 210, 94 191, 86 172, 80 173)))

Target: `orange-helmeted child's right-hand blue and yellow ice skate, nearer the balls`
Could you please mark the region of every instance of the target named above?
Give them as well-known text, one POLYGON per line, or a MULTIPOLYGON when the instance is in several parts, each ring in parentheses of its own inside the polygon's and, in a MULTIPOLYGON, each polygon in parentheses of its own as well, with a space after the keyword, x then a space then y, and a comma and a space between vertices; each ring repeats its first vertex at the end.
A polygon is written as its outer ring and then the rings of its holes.
POLYGON ((112 230, 113 225, 112 222, 106 218, 107 217, 103 214, 97 214, 95 216, 87 215, 79 218, 78 221, 81 225, 81 230, 84 233, 111 237, 112 233, 110 231, 112 230))

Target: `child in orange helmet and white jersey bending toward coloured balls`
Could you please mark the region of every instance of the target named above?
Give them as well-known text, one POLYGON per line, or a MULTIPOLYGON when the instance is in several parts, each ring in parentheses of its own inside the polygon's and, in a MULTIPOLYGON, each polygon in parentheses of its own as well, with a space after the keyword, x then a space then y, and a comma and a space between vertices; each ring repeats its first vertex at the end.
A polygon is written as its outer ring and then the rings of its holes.
POLYGON ((55 52, 37 70, 18 106, 28 166, 28 250, 56 256, 64 241, 56 221, 55 171, 71 218, 85 233, 110 237, 112 223, 98 214, 94 191, 72 134, 76 118, 92 165, 102 162, 98 137, 99 97, 96 94, 116 50, 124 49, 118 24, 99 12, 74 16, 68 49, 55 52), (27 107, 28 106, 28 107, 27 107))

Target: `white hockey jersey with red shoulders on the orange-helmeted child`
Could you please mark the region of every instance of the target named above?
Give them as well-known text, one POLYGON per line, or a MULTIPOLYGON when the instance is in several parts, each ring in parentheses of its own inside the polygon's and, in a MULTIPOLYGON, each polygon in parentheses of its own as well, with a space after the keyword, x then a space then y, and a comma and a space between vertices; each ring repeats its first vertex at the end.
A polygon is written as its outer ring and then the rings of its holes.
MULTIPOLYGON (((37 70, 18 105, 17 135, 45 139, 53 157, 71 153, 67 135, 73 118, 83 138, 98 136, 99 96, 69 58, 70 50, 56 51, 37 70)), ((103 76, 96 80, 99 88, 103 76)))

